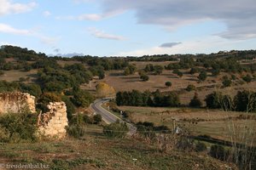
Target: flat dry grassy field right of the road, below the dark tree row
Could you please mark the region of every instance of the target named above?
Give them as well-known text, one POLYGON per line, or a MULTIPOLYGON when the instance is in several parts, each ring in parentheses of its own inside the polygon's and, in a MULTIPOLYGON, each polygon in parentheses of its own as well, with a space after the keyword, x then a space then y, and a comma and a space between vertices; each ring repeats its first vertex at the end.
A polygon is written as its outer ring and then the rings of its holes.
POLYGON ((209 135, 230 140, 233 125, 238 133, 246 133, 245 127, 253 130, 256 144, 256 119, 241 119, 241 112, 207 111, 186 108, 154 108, 119 106, 121 111, 131 111, 132 122, 154 122, 156 125, 173 127, 173 119, 180 127, 186 127, 193 135, 209 135), (238 129, 237 129, 238 128, 238 129))

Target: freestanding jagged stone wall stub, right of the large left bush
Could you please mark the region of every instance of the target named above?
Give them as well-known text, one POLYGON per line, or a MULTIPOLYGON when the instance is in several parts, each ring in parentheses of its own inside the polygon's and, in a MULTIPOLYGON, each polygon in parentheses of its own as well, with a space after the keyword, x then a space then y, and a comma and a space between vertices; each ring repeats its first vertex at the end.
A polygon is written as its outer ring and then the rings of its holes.
POLYGON ((49 138, 61 139, 66 136, 67 107, 64 102, 47 105, 49 112, 38 116, 39 132, 49 138))

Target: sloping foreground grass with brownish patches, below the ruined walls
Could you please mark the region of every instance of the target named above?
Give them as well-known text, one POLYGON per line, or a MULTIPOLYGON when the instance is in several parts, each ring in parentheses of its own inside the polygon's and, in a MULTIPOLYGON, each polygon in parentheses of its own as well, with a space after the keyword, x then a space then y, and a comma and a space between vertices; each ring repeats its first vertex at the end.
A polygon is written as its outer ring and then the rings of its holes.
MULTIPOLYGON (((99 128, 99 127, 98 127, 99 128)), ((83 139, 32 144, 0 144, 2 164, 49 165, 49 169, 224 170, 230 167, 206 153, 173 150, 161 153, 154 144, 126 138, 108 139, 87 131, 83 139)), ((236 169, 232 168, 232 169, 236 169)))

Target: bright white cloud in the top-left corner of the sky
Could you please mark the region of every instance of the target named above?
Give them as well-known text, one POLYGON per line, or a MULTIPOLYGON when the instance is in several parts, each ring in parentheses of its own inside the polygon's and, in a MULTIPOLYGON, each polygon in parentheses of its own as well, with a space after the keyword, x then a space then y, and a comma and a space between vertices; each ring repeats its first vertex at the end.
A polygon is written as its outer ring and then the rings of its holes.
POLYGON ((11 0, 0 0, 0 16, 5 14, 19 14, 32 10, 37 3, 12 3, 11 0))

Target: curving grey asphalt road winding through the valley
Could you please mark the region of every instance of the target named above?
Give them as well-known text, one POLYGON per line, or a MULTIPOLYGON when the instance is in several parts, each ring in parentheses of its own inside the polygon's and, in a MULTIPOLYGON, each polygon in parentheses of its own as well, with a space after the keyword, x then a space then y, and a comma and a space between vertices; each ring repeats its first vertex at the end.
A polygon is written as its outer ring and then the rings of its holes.
MULTIPOLYGON (((96 114, 100 114, 102 116, 102 120, 106 122, 107 124, 116 122, 119 120, 119 122, 124 122, 122 119, 120 119, 118 116, 113 115, 113 113, 105 110, 102 105, 106 102, 108 102, 110 99, 96 99, 95 102, 91 105, 91 108, 96 111, 96 114)), ((131 123, 127 123, 127 126, 129 127, 129 134, 134 134, 137 131, 137 127, 133 126, 131 123)))

